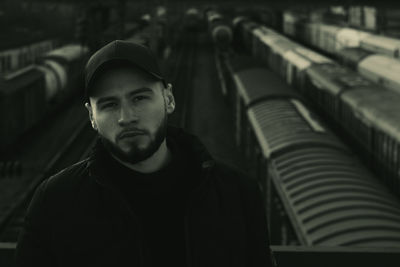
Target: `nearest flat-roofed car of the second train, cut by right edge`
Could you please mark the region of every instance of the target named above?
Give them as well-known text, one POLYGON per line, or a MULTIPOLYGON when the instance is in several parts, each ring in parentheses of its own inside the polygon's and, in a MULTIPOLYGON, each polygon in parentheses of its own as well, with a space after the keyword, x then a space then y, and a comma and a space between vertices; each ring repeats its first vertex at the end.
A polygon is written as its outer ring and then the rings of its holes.
POLYGON ((354 140, 368 142, 370 164, 390 189, 400 192, 400 96, 390 90, 349 90, 341 95, 342 123, 354 140))

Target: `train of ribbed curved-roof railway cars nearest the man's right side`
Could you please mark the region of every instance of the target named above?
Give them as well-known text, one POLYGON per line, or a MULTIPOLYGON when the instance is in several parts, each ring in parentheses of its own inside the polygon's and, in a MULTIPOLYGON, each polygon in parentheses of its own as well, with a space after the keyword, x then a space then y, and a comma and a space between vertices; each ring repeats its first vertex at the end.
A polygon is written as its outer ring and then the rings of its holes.
POLYGON ((231 60, 240 71, 230 90, 241 98, 242 127, 254 140, 247 144, 258 158, 271 243, 398 246, 400 200, 276 74, 248 60, 241 68, 238 60, 231 60))

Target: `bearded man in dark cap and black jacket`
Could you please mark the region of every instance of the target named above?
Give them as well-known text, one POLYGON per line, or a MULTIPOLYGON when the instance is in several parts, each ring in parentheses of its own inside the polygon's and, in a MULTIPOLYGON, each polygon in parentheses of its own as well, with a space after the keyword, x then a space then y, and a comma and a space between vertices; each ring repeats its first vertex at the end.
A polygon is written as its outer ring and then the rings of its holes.
POLYGON ((85 75, 99 141, 37 189, 19 266, 271 266, 257 184, 167 126, 172 86, 151 51, 114 41, 85 75))

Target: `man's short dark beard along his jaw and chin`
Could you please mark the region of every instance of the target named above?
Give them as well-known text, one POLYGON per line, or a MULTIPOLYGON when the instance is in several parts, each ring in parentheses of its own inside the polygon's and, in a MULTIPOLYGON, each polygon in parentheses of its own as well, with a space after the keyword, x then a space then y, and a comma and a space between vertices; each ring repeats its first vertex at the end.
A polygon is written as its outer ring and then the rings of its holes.
MULTIPOLYGON (((168 121, 167 118, 168 118, 167 116, 163 118, 161 125, 157 128, 154 134, 154 140, 150 140, 150 143, 145 149, 139 150, 137 147, 134 147, 131 149, 130 152, 127 153, 122 151, 116 144, 112 143, 110 140, 102 136, 100 133, 99 137, 105 149, 109 153, 111 153, 121 161, 131 164, 136 164, 151 157, 159 149, 159 147, 161 146, 162 142, 164 141, 167 135, 167 121, 168 121)), ((148 132, 146 134, 149 135, 148 132)))

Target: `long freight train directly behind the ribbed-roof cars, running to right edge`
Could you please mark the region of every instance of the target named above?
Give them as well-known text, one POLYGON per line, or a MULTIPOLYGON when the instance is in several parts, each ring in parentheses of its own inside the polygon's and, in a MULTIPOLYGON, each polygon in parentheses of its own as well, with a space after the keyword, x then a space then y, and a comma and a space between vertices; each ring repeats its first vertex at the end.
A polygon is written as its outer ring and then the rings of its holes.
POLYGON ((251 21, 236 25, 248 53, 302 92, 400 194, 400 95, 251 21))

